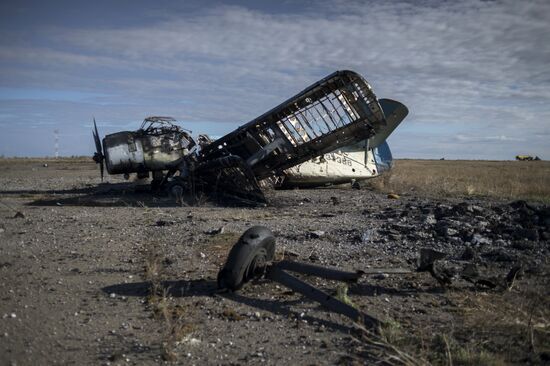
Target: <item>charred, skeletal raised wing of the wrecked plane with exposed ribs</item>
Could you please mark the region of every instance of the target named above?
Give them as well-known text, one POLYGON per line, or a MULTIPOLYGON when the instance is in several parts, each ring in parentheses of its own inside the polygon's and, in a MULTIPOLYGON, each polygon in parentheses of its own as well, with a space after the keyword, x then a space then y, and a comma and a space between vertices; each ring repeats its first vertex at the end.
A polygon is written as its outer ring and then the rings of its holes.
POLYGON ((200 160, 236 155, 261 180, 365 140, 385 124, 368 82, 353 71, 336 71, 216 140, 200 160))

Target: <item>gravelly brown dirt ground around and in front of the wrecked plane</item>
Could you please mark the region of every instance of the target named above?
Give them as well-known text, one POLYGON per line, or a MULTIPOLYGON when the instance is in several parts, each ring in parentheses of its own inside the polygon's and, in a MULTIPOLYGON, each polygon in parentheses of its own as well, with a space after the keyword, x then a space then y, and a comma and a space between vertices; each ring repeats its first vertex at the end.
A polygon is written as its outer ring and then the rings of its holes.
POLYGON ((106 180, 93 162, 0 160, 0 364, 550 362, 548 206, 344 187, 268 191, 265 208, 180 207, 106 180), (349 285, 381 334, 267 280, 218 292, 229 249, 254 225, 285 258, 413 271, 349 285), (414 272, 420 248, 497 286, 443 287, 414 272))

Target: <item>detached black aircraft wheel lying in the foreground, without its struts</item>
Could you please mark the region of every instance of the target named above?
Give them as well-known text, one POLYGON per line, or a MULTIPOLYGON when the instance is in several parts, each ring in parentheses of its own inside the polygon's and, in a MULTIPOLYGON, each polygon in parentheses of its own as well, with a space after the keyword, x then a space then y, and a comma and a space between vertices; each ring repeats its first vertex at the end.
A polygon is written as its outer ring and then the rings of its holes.
POLYGON ((246 230, 231 248, 225 265, 218 273, 218 288, 239 290, 246 282, 264 274, 275 257, 275 237, 265 226, 246 230))

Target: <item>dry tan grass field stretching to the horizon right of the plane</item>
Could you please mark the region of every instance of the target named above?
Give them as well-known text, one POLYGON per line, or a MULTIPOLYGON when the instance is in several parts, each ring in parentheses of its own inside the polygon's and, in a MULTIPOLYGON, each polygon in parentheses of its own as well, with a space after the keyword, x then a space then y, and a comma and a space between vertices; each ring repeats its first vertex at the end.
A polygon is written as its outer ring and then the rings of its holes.
POLYGON ((550 162, 396 160, 371 185, 384 192, 550 202, 550 162))

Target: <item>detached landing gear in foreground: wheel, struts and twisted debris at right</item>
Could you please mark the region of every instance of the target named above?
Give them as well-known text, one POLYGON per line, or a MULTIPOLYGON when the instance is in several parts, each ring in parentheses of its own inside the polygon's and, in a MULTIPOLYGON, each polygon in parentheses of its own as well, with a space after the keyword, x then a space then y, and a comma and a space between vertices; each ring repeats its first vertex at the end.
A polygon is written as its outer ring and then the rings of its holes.
MULTIPOLYGON (((416 272, 428 272, 442 287, 461 278, 479 288, 510 289, 521 266, 516 265, 504 279, 484 276, 471 262, 453 263, 445 260, 446 253, 422 248, 418 257, 416 272)), ((310 300, 317 301, 331 311, 342 314, 373 331, 378 331, 382 321, 375 316, 359 310, 345 299, 332 296, 288 272, 321 277, 328 280, 355 283, 364 275, 372 274, 409 274, 412 271, 402 268, 370 268, 367 270, 343 271, 310 263, 290 260, 275 260, 275 236, 264 226, 253 226, 246 230, 229 251, 227 260, 218 272, 220 290, 238 291, 250 280, 265 278, 310 300)))

